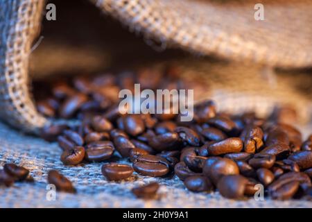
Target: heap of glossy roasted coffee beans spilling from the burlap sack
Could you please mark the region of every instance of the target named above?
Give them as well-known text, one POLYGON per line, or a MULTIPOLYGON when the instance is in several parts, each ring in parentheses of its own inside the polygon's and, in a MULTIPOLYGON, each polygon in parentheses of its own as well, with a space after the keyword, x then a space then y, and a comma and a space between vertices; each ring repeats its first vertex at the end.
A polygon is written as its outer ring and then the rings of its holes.
MULTIPOLYGON (((177 76, 174 68, 144 69, 53 83, 37 109, 47 117, 80 123, 46 126, 41 135, 58 142, 65 165, 105 162, 101 170, 107 180, 127 180, 135 171, 141 176, 177 176, 190 191, 218 190, 226 198, 254 196, 263 187, 269 198, 311 199, 312 136, 303 140, 293 126, 252 112, 218 113, 213 101, 196 104, 189 122, 180 121, 180 114, 119 112, 120 89, 133 91, 135 83, 142 89, 183 89, 185 83, 177 76), (116 163, 116 157, 130 163, 116 163)), ((60 190, 73 191, 62 176, 50 174, 58 178, 50 182, 60 190)), ((132 191, 145 198, 154 196, 158 187, 132 191)))

